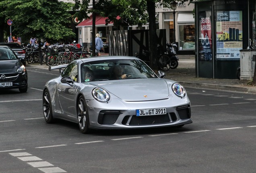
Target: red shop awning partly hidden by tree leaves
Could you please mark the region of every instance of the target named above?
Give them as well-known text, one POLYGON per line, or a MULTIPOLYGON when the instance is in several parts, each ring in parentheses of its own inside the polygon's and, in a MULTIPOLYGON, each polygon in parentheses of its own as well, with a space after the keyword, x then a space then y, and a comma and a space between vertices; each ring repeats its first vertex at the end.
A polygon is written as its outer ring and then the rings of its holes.
MULTIPOLYGON (((96 15, 95 26, 96 27, 106 26, 105 25, 106 19, 107 17, 104 18, 102 16, 96 15)), ((120 19, 120 17, 117 16, 117 19, 120 19)), ((109 24, 107 24, 107 26, 113 26, 113 22, 110 22, 109 24)), ((93 27, 93 15, 91 15, 90 18, 85 19, 83 22, 81 22, 76 26, 76 28, 85 28, 85 27, 93 27)))

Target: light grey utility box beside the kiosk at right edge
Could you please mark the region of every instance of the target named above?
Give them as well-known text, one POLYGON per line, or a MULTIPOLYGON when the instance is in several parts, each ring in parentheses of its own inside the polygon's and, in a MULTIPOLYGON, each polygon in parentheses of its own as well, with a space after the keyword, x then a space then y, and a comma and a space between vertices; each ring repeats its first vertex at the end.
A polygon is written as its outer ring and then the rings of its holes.
POLYGON ((256 49, 240 50, 240 80, 253 80, 256 49))

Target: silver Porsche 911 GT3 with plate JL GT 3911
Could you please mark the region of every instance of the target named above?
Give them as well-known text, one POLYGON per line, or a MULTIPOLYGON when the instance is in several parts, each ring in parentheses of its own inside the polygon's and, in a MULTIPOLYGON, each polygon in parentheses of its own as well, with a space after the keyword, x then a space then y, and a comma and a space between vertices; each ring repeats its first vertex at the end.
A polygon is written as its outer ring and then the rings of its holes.
MULTIPOLYGON (((62 68, 65 68, 62 71, 62 68)), ((190 100, 181 84, 164 79, 139 58, 105 56, 74 60, 43 89, 43 114, 90 129, 180 126, 192 123, 190 100)))

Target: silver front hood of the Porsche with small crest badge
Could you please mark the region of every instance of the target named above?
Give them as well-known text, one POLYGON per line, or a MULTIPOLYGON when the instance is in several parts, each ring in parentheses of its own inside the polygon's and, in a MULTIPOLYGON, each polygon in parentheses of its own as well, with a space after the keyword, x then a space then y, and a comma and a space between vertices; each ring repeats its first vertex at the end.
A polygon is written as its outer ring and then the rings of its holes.
POLYGON ((159 78, 108 80, 96 84, 125 101, 160 100, 169 96, 166 81, 159 78))

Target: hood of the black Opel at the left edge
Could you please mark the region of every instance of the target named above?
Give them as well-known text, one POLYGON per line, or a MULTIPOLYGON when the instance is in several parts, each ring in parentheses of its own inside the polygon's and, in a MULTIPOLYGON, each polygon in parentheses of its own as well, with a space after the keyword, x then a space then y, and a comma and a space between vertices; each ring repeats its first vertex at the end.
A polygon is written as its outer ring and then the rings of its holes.
POLYGON ((0 60, 0 73, 13 73, 21 66, 20 60, 0 60))

